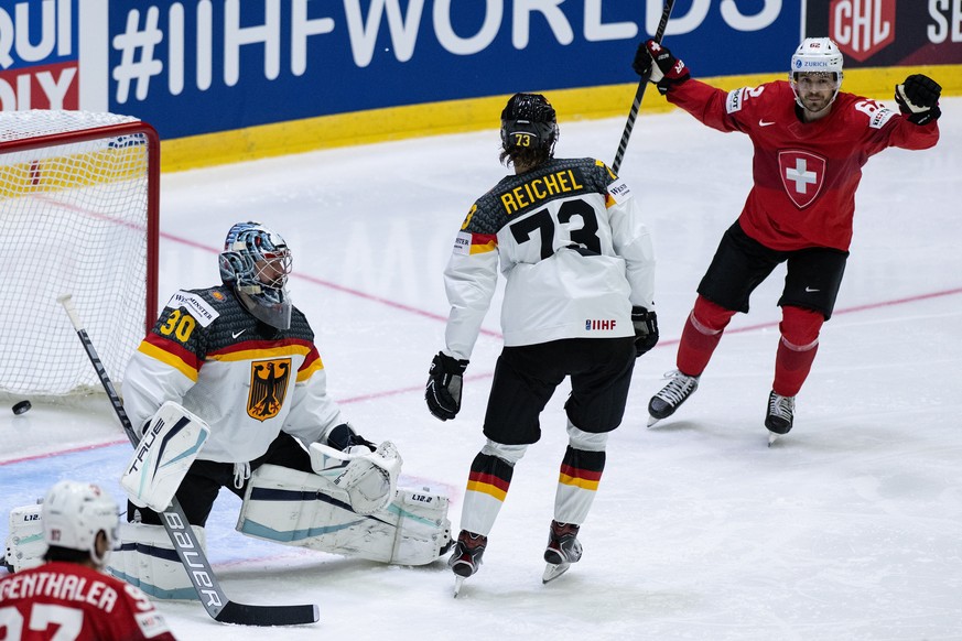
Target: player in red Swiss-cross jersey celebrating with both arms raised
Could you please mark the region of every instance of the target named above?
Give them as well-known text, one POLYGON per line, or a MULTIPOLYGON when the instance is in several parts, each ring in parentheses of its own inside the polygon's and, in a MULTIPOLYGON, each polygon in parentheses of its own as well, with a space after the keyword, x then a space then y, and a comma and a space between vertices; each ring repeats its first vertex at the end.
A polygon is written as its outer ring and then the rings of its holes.
POLYGON ((669 102, 713 129, 747 134, 755 146, 755 184, 699 284, 678 348, 678 370, 651 398, 649 425, 670 416, 695 391, 728 320, 747 313, 755 287, 787 262, 765 419, 771 441, 791 430, 796 395, 835 305, 862 166, 888 146, 933 146, 941 87, 923 75, 908 76, 895 90, 900 113, 841 93, 842 54, 828 37, 806 39, 798 46, 788 82, 733 91, 692 79, 684 63, 652 40, 639 45, 634 67, 642 76, 650 72, 669 102))

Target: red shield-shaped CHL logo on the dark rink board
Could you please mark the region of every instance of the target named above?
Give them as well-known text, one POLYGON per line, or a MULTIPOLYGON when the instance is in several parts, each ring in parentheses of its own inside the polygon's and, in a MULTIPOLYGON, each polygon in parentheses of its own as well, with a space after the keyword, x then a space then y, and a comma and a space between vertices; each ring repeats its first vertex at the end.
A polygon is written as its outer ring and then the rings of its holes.
POLYGON ((895 42, 895 0, 832 0, 829 33, 845 56, 865 62, 895 42))

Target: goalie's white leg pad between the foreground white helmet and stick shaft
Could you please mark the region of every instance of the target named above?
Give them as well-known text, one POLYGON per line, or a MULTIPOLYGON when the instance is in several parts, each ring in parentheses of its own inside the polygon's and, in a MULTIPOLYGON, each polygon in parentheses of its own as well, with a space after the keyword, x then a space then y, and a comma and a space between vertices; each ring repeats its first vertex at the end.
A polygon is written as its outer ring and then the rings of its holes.
MULTIPOLYGON (((204 529, 194 525, 204 546, 204 529)), ((120 524, 120 547, 110 554, 107 572, 155 599, 197 600, 197 591, 161 525, 120 524)))

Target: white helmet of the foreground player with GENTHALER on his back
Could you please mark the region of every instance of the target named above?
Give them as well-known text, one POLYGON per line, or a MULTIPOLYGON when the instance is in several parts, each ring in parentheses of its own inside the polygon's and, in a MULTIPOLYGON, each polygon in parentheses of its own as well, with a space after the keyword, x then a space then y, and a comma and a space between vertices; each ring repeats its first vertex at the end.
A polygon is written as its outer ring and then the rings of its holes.
POLYGON ((119 518, 117 503, 99 487, 60 481, 43 499, 41 520, 47 559, 82 561, 89 556, 98 567, 107 564, 117 541, 119 518))

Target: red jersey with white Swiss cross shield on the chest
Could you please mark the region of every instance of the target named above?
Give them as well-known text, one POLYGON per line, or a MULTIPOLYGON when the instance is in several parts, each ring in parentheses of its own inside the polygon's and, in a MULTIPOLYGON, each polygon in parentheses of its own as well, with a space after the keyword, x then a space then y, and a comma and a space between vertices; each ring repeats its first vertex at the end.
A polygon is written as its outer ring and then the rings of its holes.
POLYGON ((720 131, 746 133, 755 146, 754 186, 739 224, 775 250, 848 250, 855 189, 868 157, 888 146, 920 150, 939 140, 936 121, 918 126, 875 100, 840 93, 814 122, 796 115, 785 80, 723 91, 699 80, 668 100, 720 131))

